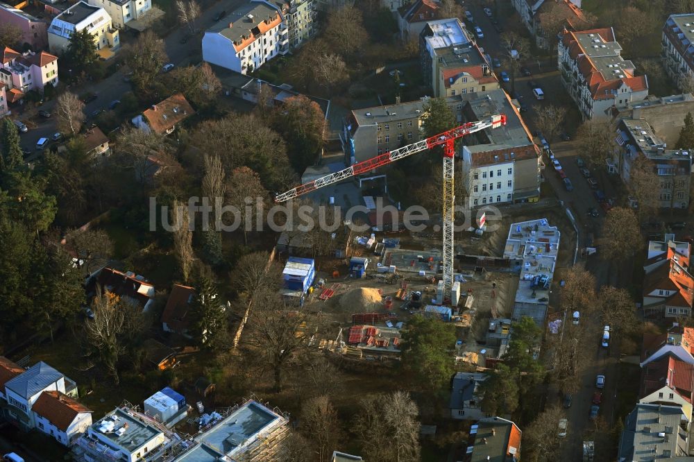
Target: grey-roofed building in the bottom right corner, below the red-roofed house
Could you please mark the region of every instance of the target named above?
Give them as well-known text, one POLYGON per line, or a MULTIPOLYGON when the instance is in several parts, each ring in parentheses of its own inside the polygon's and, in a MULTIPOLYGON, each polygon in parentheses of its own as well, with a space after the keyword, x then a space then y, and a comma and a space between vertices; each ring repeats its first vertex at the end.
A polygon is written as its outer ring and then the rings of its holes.
POLYGON ((690 422, 679 406, 636 404, 625 420, 618 460, 689 460, 690 422))

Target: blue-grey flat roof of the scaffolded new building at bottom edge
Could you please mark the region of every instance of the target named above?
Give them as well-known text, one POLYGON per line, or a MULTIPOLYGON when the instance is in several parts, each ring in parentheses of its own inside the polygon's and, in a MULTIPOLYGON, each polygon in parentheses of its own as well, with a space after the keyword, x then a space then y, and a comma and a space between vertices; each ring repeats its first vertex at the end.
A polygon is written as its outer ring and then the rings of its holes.
POLYGON ((214 447, 221 455, 230 455, 253 443, 259 434, 286 422, 285 417, 251 400, 195 439, 214 447))

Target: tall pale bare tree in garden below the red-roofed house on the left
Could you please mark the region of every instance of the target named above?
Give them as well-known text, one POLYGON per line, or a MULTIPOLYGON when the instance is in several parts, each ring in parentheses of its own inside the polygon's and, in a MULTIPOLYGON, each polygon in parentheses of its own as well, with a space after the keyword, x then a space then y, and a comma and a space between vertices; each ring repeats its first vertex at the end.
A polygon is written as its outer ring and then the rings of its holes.
POLYGON ((116 385, 120 382, 118 359, 124 351, 118 340, 125 320, 124 310, 121 308, 118 296, 110 292, 101 293, 101 287, 97 287, 92 301, 94 318, 85 323, 87 341, 99 353, 101 363, 116 385))

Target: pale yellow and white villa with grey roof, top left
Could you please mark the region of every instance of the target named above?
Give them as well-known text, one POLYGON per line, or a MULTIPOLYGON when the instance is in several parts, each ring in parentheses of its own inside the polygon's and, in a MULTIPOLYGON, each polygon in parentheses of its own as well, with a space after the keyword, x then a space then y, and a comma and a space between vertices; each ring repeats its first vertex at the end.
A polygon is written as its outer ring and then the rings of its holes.
POLYGON ((108 12, 99 6, 78 1, 53 18, 48 30, 51 53, 65 53, 71 35, 75 31, 83 31, 84 29, 87 29, 94 36, 96 49, 102 58, 112 57, 113 49, 120 46, 118 29, 112 26, 108 12))

